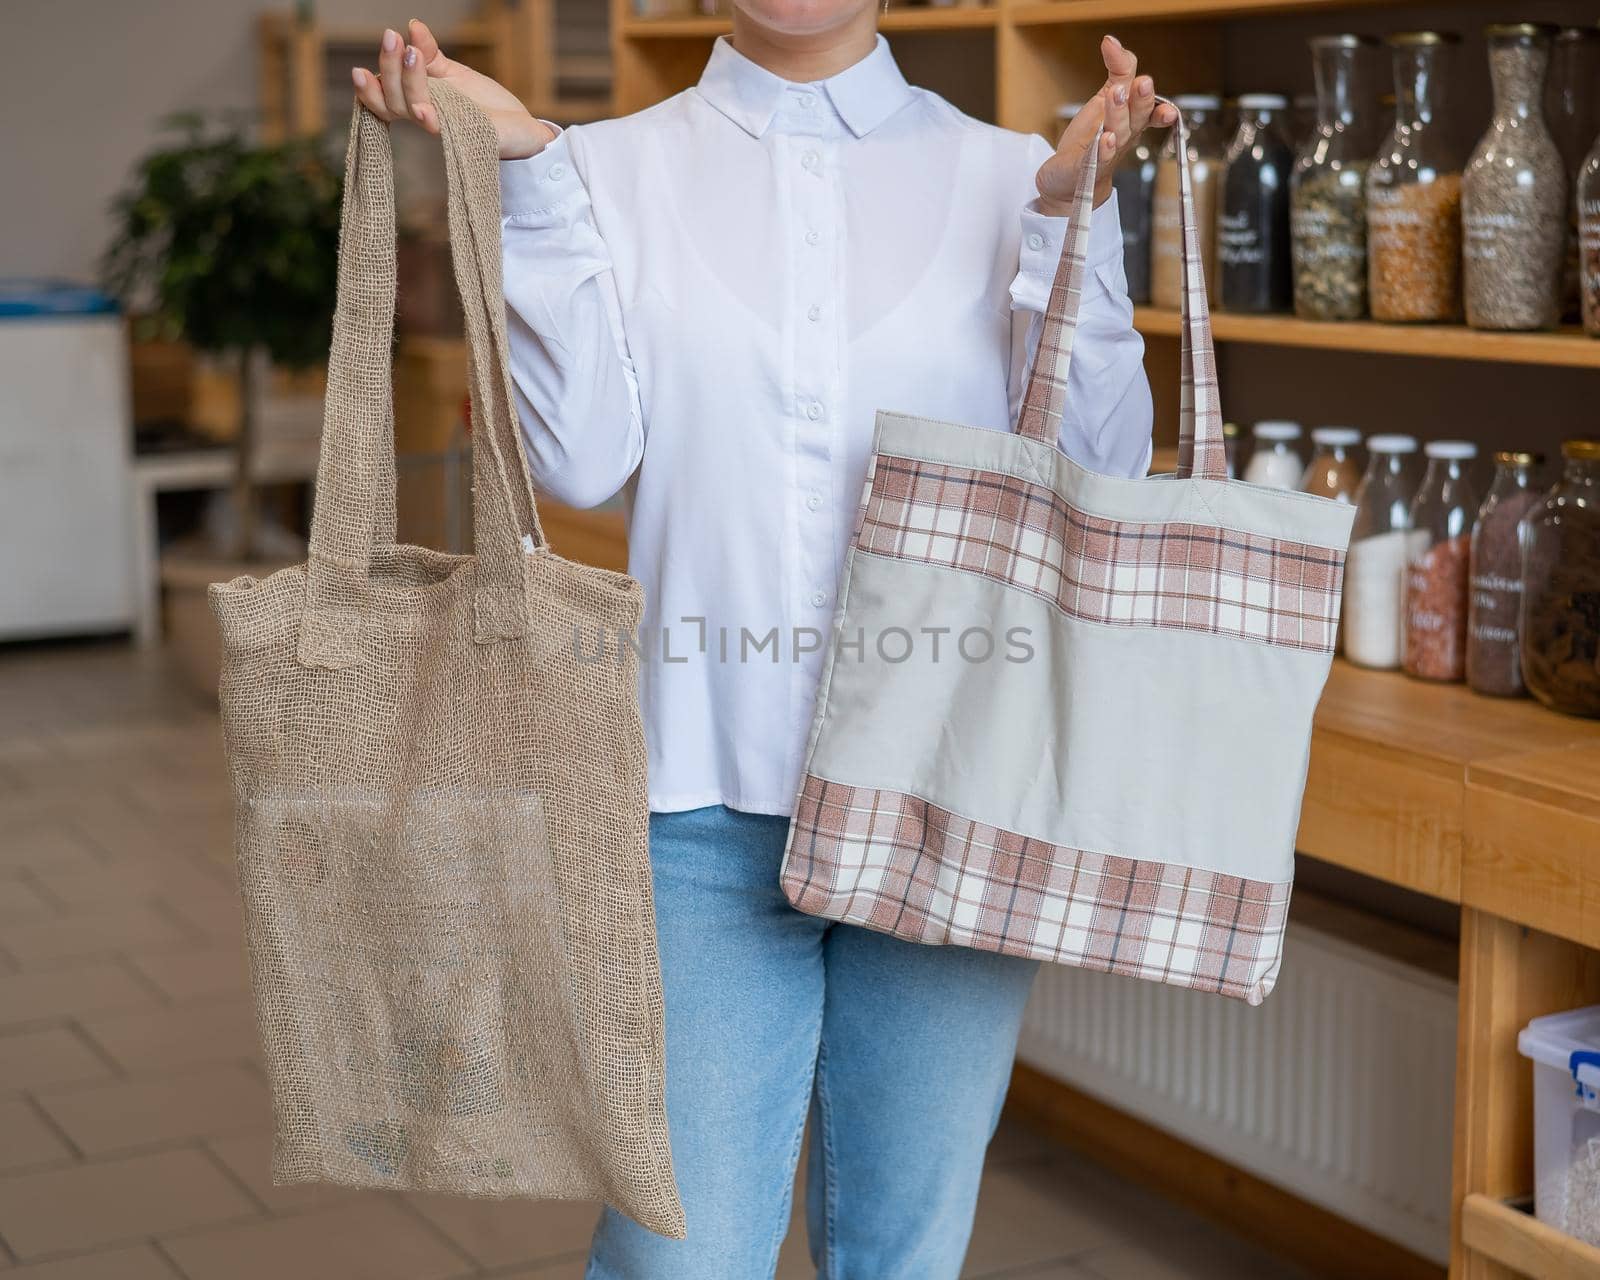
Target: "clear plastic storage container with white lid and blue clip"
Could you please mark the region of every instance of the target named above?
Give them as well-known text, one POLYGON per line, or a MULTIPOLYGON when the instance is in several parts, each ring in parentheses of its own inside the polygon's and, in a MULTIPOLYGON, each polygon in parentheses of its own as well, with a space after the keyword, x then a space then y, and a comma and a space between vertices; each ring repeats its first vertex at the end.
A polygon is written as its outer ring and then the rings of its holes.
POLYGON ((1534 1018, 1517 1037, 1533 1061, 1533 1213, 1600 1245, 1600 1005, 1534 1018))

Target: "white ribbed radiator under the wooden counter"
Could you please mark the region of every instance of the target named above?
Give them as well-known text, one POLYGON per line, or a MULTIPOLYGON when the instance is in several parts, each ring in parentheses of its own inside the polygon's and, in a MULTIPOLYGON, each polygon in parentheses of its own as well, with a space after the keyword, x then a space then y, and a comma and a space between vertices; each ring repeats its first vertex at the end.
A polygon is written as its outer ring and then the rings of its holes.
POLYGON ((1454 982, 1291 922, 1259 1008, 1045 965, 1019 1056, 1424 1258, 1450 1256, 1454 982))

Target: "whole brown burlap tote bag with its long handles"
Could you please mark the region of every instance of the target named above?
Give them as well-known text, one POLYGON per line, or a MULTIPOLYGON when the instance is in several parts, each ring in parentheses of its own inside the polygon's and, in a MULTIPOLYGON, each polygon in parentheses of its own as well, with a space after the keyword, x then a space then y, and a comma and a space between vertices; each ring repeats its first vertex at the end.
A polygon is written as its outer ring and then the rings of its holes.
POLYGON ((394 162, 357 109, 309 560, 211 587, 274 1181, 606 1200, 682 1237, 637 658, 574 642, 643 595, 544 542, 494 130, 434 101, 475 552, 395 544, 394 162))

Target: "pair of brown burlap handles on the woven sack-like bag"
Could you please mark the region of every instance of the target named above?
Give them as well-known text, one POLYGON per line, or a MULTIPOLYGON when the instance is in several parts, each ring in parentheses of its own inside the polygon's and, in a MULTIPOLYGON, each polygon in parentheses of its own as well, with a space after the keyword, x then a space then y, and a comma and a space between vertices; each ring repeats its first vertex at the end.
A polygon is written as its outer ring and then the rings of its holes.
MULTIPOLYGON (((494 126, 448 85, 432 85, 430 94, 443 134, 450 251, 467 331, 475 638, 493 643, 531 626, 523 536, 542 549, 544 531, 512 408, 494 126)), ((357 104, 299 635, 299 661, 312 667, 362 662, 373 550, 395 536, 394 309, 394 150, 389 126, 357 104)))

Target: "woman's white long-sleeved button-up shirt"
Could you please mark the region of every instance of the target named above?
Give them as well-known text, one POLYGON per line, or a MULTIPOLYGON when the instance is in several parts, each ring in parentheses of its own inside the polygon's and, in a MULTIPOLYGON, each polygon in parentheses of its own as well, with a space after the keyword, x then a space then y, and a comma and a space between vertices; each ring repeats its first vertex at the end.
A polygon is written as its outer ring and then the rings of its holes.
MULTIPOLYGON (((792 811, 874 414, 1011 427, 1067 221, 1034 205, 1050 154, 907 85, 882 35, 808 85, 718 38, 694 88, 501 166, 534 483, 626 485, 653 810, 792 811)), ((1115 202, 1088 264, 1061 445, 1139 475, 1115 202)))

